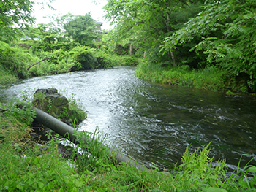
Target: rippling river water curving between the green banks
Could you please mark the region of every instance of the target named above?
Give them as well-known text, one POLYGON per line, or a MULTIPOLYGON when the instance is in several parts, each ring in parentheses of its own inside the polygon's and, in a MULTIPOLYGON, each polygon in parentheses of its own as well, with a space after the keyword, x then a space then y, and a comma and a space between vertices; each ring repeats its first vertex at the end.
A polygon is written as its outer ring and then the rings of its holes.
MULTIPOLYGON (((226 96, 205 91, 146 82, 134 76, 135 66, 72 72, 20 80, 0 88, 1 101, 21 91, 57 88, 80 99, 88 118, 80 130, 98 128, 107 142, 140 163, 170 169, 191 149, 211 142, 215 161, 227 159, 236 169, 242 154, 256 155, 255 96, 226 96)), ((244 156, 244 165, 251 158, 244 156)), ((256 161, 252 161, 256 164, 256 161)))

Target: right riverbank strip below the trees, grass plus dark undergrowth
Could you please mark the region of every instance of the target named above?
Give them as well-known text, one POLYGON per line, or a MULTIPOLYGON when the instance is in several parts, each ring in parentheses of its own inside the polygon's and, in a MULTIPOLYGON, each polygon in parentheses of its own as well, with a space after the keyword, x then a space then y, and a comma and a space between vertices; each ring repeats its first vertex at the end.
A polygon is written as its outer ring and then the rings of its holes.
MULTIPOLYGON (((190 88, 200 88, 212 91, 233 93, 249 93, 246 81, 230 77, 227 71, 217 66, 207 66, 204 69, 190 69, 188 65, 164 67, 159 64, 148 64, 142 61, 135 73, 137 77, 151 82, 168 85, 179 85, 190 88)), ((251 94, 255 94, 251 92, 251 94)))

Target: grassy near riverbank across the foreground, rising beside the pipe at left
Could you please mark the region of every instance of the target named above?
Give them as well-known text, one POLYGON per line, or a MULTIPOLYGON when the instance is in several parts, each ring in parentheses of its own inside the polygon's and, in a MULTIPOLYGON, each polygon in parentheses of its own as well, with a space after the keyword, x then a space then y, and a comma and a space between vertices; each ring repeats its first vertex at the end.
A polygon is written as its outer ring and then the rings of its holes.
MULTIPOLYGON (((256 167, 246 166, 227 177, 225 160, 213 164, 209 146, 184 152, 181 162, 169 172, 142 171, 127 164, 113 164, 113 157, 99 133, 78 133, 91 137, 70 149, 67 160, 56 147, 59 137, 48 132, 49 141, 31 140, 34 112, 31 104, 18 101, 0 105, 0 189, 1 191, 254 191, 256 167), (8 109, 5 111, 4 109, 8 109), (78 148, 80 147, 80 148, 78 148)), ((103 137, 105 138, 105 137, 103 137)))

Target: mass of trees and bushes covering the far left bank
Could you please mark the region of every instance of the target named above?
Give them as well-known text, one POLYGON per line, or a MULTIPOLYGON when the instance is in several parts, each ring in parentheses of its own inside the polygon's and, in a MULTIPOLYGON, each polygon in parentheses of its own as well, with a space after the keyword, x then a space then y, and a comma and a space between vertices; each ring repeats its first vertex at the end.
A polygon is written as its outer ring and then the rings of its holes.
POLYGON ((4 10, 0 14, 1 84, 12 82, 17 77, 137 63, 135 59, 123 59, 108 50, 104 38, 107 34, 98 29, 102 23, 93 20, 90 13, 54 15, 49 17, 52 20, 50 23, 34 26, 31 25, 34 18, 29 15, 33 4, 33 1, 3 1, 0 4, 4 10), (14 9, 17 11, 14 12, 14 9), (11 16, 19 20, 12 20, 11 16), (20 23, 20 20, 24 23, 20 23))

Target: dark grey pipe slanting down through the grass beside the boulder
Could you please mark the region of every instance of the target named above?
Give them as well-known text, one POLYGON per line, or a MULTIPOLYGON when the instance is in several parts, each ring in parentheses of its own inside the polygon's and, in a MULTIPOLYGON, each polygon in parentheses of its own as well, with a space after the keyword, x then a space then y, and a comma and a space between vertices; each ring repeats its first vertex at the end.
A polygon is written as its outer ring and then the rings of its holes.
MULTIPOLYGON (((39 123, 42 123, 44 126, 47 126, 51 130, 55 131, 57 134, 61 135, 62 137, 69 139, 70 142, 73 142, 75 144, 79 143, 75 136, 74 128, 72 128, 71 126, 68 126, 66 123, 63 123, 61 120, 53 118, 53 116, 49 115, 46 112, 43 112, 42 110, 39 110, 35 107, 32 107, 31 109, 36 112, 35 120, 37 120, 39 123)), ((83 139, 86 139, 86 138, 83 137, 83 139)), ((87 142, 91 142, 91 139, 89 138, 87 142)), ((148 170, 145 164, 138 164, 137 161, 134 161, 131 158, 128 158, 123 154, 121 154, 118 149, 113 149, 112 147, 109 147, 108 153, 111 156, 113 156, 114 162, 116 164, 125 162, 130 166, 137 167, 142 171, 148 170)))

